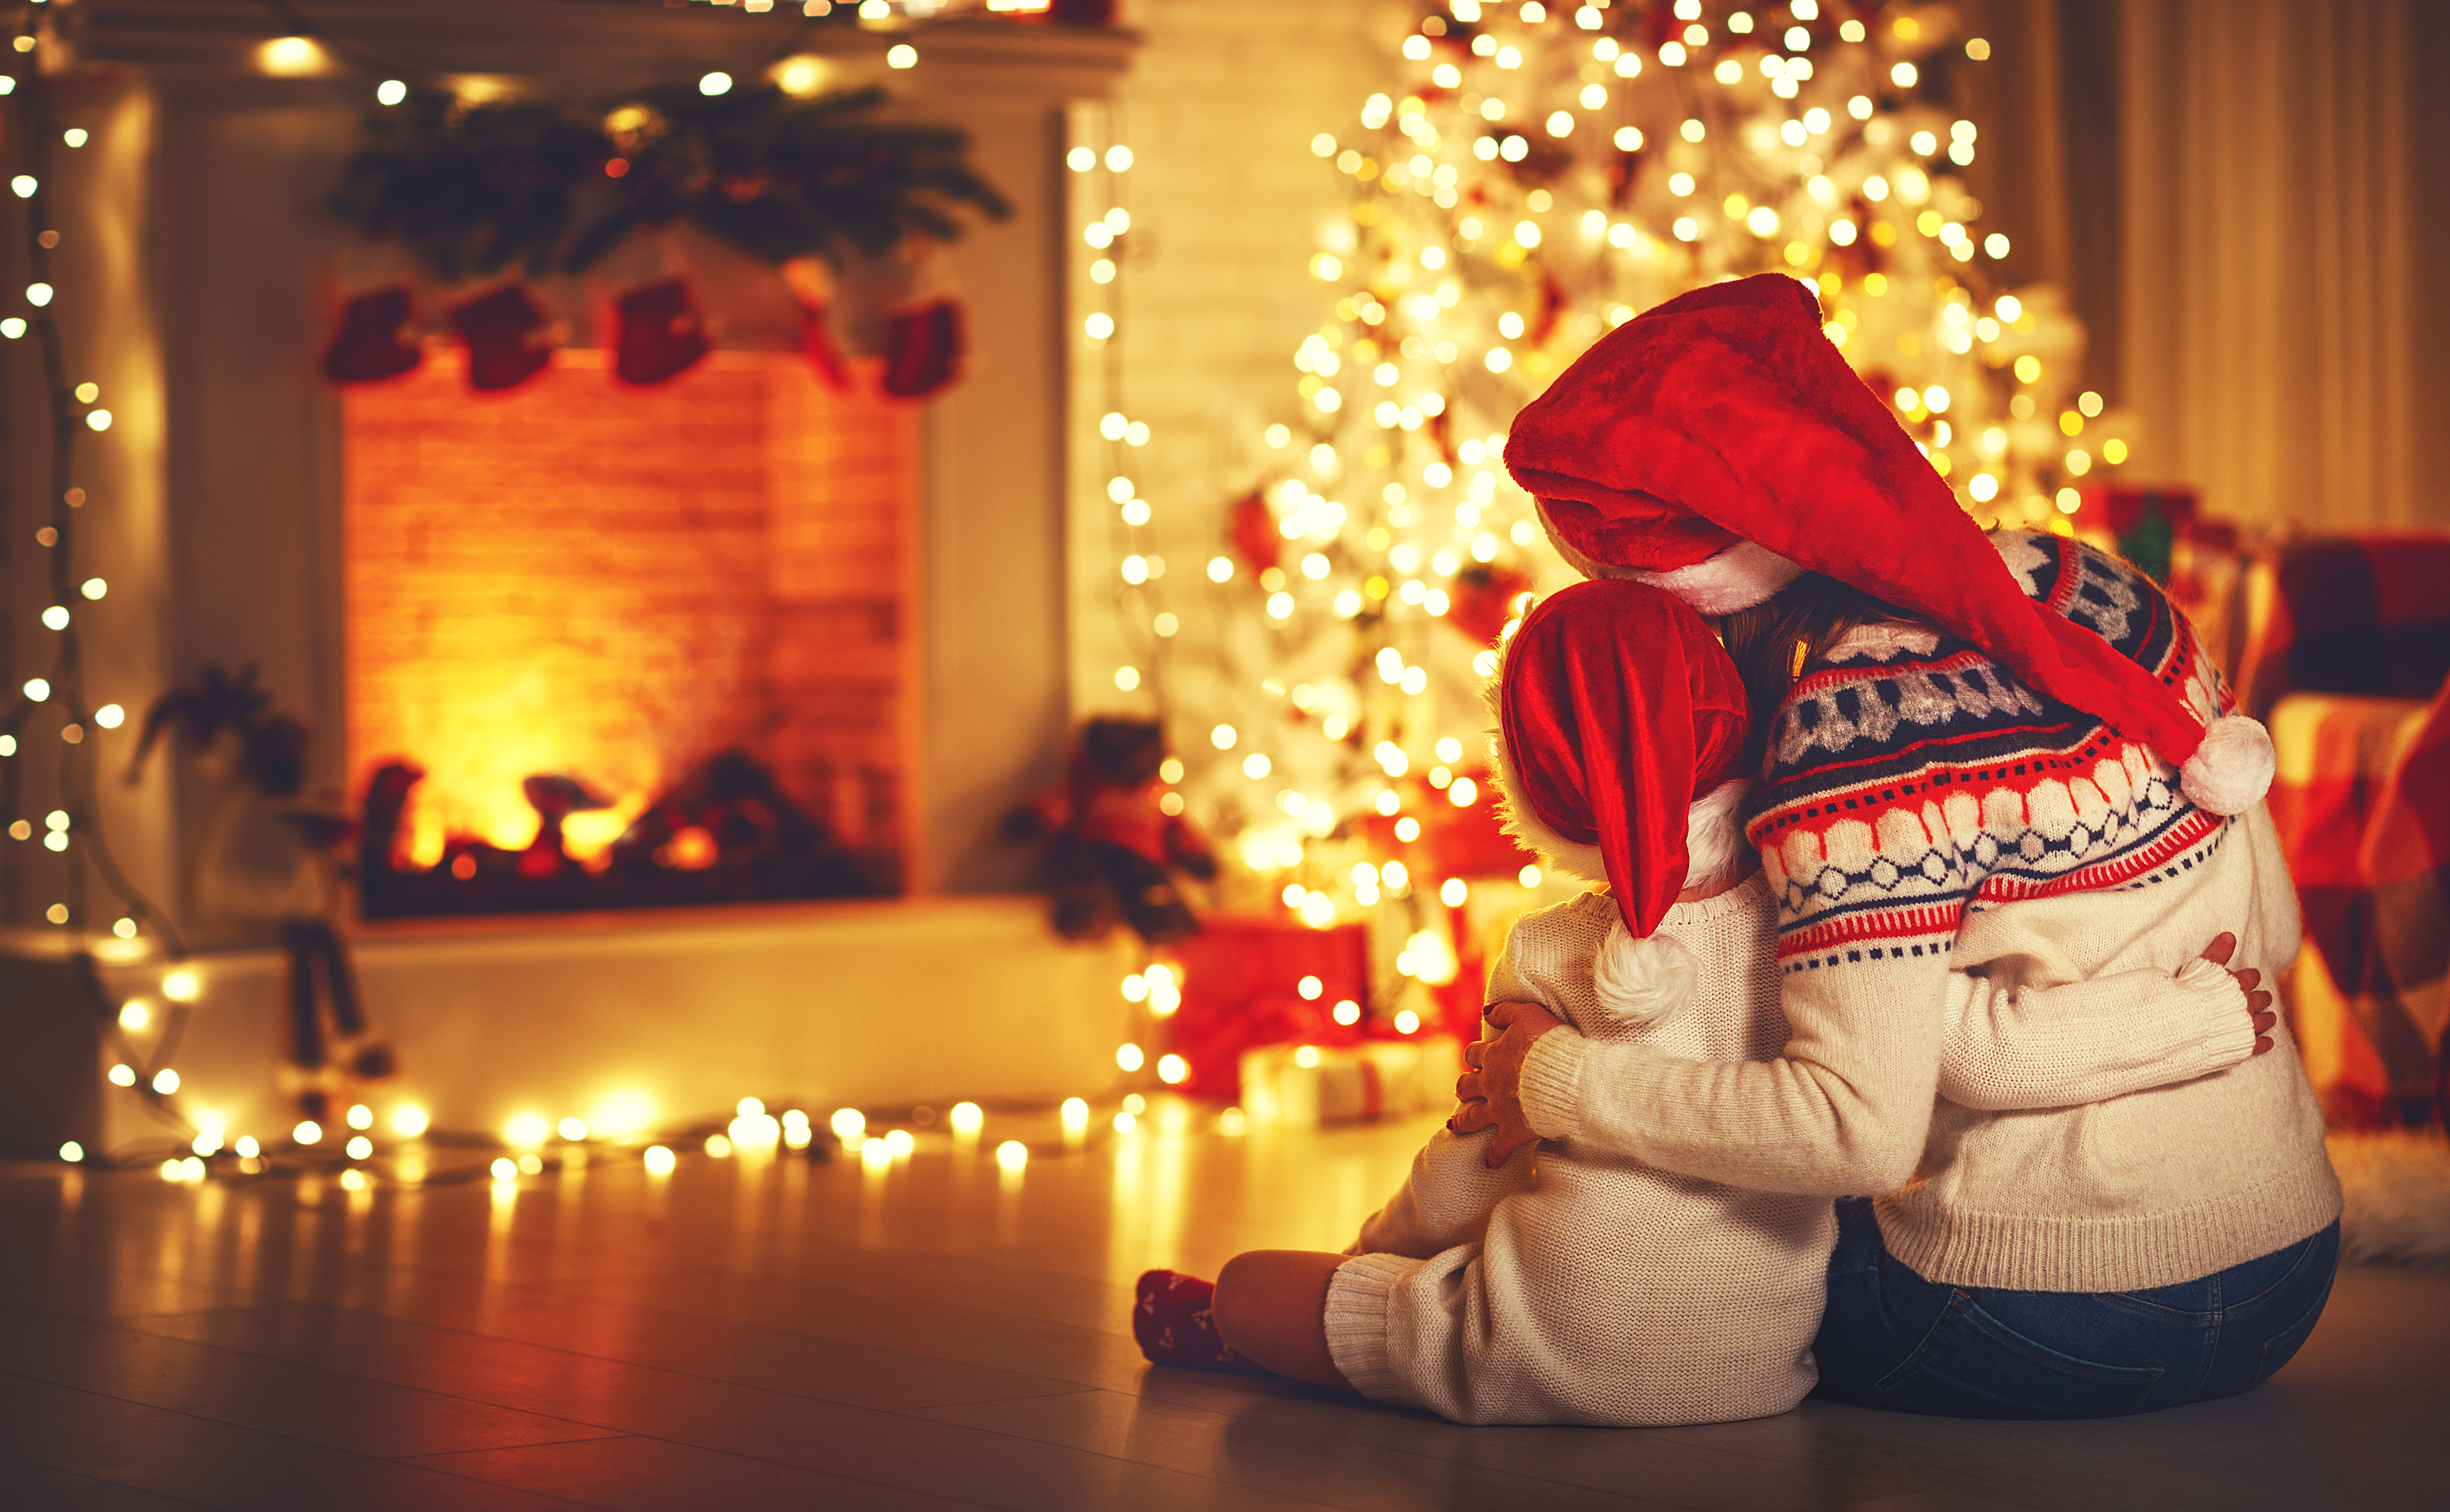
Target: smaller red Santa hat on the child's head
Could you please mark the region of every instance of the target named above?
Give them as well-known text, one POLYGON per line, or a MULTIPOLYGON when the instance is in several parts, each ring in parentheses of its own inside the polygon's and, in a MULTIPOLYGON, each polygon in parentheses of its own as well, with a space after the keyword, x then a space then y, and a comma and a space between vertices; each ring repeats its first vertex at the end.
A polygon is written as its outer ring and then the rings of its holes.
POLYGON ((1637 936, 1744 850, 1744 684, 1691 608, 1644 583, 1575 583, 1507 642, 1497 686, 1504 828, 1605 880, 1637 936))

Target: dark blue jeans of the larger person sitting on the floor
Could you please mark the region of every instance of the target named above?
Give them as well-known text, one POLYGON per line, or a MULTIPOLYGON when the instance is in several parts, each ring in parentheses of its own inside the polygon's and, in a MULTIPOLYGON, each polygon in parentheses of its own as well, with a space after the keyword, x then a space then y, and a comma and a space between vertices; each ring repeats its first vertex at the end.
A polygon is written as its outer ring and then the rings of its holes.
POLYGON ((2340 1225, 2149 1291, 1943 1287, 1889 1255, 1872 1203, 1838 1203, 1820 1394, 1936 1416, 2124 1416, 2247 1392, 2330 1301, 2340 1225))

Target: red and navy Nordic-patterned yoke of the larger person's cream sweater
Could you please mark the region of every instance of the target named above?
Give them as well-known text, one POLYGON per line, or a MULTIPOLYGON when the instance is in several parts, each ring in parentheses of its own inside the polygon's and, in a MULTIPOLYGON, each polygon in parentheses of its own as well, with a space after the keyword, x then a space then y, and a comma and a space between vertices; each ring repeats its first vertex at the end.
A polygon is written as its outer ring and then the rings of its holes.
MULTIPOLYGON (((2034 598, 2180 689, 2227 689, 2141 573, 2073 539, 1994 532, 2034 598)), ((1967 907, 2144 885, 2220 843, 2146 745, 1936 630, 1874 625, 1803 669, 1747 833, 1779 892, 1786 973, 1948 956, 1967 907)))

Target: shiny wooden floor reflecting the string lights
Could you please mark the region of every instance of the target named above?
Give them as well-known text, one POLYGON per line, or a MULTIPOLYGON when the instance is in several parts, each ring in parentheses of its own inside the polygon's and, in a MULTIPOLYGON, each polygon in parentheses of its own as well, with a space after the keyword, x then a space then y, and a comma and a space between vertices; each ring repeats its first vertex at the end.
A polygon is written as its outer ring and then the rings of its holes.
POLYGON ((1428 1127, 1166 1113, 1017 1179, 936 1144, 424 1191, 5 1166, 0 1507, 2450 1505, 2443 1274, 2352 1269, 2276 1382, 2107 1424, 1458 1429, 1152 1370, 1142 1267, 1340 1247, 1428 1127))

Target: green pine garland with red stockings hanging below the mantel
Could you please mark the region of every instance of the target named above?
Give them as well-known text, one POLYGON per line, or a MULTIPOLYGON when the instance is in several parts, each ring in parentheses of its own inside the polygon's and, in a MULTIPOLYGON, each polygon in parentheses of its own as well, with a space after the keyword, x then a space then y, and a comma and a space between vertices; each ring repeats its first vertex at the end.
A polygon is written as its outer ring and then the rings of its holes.
MULTIPOLYGON (((615 248, 686 221, 777 270, 801 309, 801 346, 835 387, 853 375, 835 338, 833 274, 853 260, 889 262, 894 277, 862 279, 887 316, 882 390, 941 392, 968 338, 938 248, 973 216, 1012 216, 970 167, 968 132, 887 120, 882 88, 794 98, 708 78, 720 88, 590 103, 470 103, 387 83, 331 211, 443 292, 478 390, 514 387, 549 365, 556 321, 522 279, 600 270, 615 248)), ((674 260, 666 248, 657 262, 674 260)), ((323 375, 397 377, 424 360, 419 331, 417 287, 392 267, 350 292, 323 375)), ((710 348, 688 279, 666 267, 615 297, 610 346, 625 382, 686 372, 710 348)))

